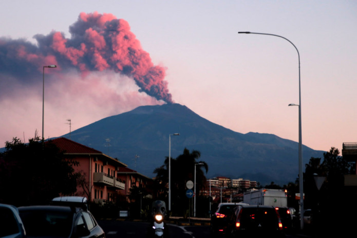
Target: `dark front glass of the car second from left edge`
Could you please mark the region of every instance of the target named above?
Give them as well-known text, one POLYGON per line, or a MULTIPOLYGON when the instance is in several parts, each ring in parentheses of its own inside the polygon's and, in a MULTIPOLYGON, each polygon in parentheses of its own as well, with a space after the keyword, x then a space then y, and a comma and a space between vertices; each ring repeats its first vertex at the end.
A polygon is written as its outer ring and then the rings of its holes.
POLYGON ((72 213, 68 211, 20 211, 28 236, 68 237, 72 227, 72 213))

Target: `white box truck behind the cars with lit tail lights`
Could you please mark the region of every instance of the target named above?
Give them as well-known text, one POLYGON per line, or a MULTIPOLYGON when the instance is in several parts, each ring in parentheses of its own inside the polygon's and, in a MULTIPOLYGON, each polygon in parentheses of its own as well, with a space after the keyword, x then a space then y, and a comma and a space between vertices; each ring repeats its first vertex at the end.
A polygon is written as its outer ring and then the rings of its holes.
POLYGON ((243 194, 243 203, 287 207, 288 193, 281 189, 251 189, 243 194))

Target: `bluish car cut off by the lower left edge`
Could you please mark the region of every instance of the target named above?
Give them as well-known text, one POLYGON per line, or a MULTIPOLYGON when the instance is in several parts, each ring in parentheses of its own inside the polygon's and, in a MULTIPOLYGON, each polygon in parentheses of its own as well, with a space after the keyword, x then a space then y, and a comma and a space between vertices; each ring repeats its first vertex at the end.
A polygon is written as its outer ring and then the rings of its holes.
POLYGON ((23 238, 25 228, 16 207, 0 204, 0 237, 23 238))

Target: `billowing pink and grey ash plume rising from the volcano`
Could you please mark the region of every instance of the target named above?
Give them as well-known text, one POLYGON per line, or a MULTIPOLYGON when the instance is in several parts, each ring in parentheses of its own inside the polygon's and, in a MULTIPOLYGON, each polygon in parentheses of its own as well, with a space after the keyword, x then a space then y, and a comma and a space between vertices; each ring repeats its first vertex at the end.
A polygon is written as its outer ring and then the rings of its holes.
POLYGON ((37 34, 37 45, 1 38, 0 72, 21 79, 38 75, 44 65, 51 64, 61 70, 77 68, 83 76, 90 71, 114 70, 134 79, 147 95, 172 103, 165 68, 153 64, 125 20, 112 14, 81 13, 69 32, 70 39, 56 31, 37 34))

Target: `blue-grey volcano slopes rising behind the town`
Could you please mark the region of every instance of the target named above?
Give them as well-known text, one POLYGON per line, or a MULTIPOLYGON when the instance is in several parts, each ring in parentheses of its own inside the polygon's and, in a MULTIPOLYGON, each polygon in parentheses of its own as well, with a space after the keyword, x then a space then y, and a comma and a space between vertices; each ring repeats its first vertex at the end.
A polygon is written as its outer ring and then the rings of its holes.
MULTIPOLYGON (((201 160, 209 164, 208 177, 243 177, 262 185, 271 181, 283 185, 297 178, 297 142, 271 134, 234 132, 180 104, 140 106, 73 131, 70 139, 153 177, 154 169, 168 156, 168 137, 174 133, 180 136, 171 136, 171 156, 176 158, 184 148, 200 151, 201 160)), ((304 164, 322 156, 323 151, 303 146, 304 164)))

